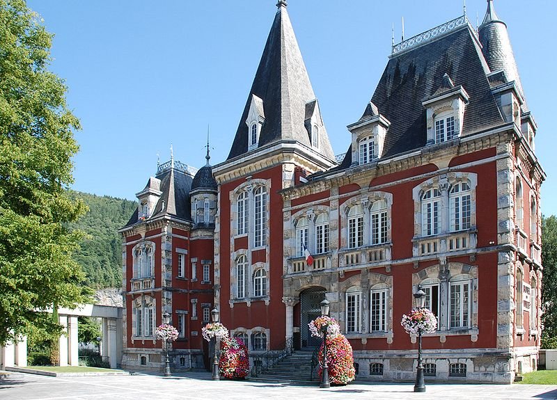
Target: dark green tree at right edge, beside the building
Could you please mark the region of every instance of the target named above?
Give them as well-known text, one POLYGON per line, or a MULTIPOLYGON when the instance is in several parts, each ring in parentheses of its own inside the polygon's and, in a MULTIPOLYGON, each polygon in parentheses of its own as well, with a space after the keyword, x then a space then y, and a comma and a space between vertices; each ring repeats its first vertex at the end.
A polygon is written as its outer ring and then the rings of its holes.
POLYGON ((542 216, 542 347, 557 345, 557 217, 542 216), (553 344, 549 346, 549 342, 553 344))

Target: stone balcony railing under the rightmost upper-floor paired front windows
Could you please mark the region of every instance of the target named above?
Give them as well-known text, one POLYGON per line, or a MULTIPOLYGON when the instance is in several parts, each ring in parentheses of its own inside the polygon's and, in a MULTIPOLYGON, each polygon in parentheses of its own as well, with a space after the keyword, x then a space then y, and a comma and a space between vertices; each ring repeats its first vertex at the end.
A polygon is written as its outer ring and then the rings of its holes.
POLYGON ((414 257, 451 253, 476 248, 476 232, 450 232, 434 237, 418 237, 414 239, 414 257))

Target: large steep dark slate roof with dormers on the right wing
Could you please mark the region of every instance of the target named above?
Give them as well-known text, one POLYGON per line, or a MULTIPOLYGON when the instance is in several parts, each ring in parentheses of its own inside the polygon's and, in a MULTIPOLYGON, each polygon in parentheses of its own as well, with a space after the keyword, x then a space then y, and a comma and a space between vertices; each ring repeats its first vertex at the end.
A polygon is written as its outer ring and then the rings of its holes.
MULTIPOLYGON (((462 86, 470 97, 462 135, 503 122, 487 79, 489 70, 473 35, 465 24, 461 29, 389 60, 372 96, 372 104, 366 105, 362 115, 366 118, 379 111, 391 122, 382 158, 425 146, 426 111, 422 102, 436 93, 450 90, 451 84, 462 86)), ((334 169, 350 167, 350 157, 351 149, 340 168, 334 169)))

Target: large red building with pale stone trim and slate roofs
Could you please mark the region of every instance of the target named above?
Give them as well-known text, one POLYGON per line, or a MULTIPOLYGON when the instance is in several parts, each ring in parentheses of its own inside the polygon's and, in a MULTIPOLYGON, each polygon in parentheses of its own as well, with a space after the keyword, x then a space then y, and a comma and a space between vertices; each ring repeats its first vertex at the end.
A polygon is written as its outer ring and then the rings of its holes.
POLYGON ((423 339, 430 379, 510 383, 535 369, 545 174, 492 1, 478 31, 464 15, 393 45, 338 159, 285 1, 277 6, 226 161, 201 168, 196 178, 209 183, 191 188, 187 168, 162 168, 138 193, 154 208, 122 231, 123 364, 160 365, 160 344, 131 334, 148 304, 156 323, 166 311, 187 327, 175 365, 187 354, 184 367, 201 367, 201 322, 213 304, 258 354, 290 338, 318 344, 307 323, 327 298, 359 378, 411 379, 416 337, 400 319, 423 289, 439 319, 423 339), (146 241, 159 252, 148 282, 133 274, 146 241))

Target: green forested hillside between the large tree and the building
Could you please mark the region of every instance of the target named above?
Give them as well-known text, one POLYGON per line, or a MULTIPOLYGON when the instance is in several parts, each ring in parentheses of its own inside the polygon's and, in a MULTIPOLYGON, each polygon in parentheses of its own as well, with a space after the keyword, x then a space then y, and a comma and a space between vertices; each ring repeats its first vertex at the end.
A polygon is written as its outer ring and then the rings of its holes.
POLYGON ((70 225, 88 234, 81 249, 74 253, 74 259, 87 274, 87 285, 95 289, 122 286, 122 245, 117 231, 130 219, 137 203, 106 195, 72 195, 89 207, 87 214, 70 225))

